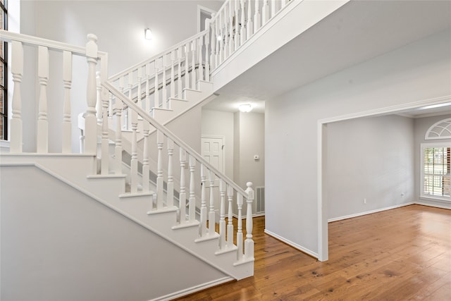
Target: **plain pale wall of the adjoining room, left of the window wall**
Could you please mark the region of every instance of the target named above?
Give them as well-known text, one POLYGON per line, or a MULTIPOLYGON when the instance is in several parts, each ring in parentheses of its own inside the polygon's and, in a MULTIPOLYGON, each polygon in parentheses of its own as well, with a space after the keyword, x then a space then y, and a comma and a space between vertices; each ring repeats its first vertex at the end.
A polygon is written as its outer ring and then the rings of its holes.
POLYGON ((413 202, 413 119, 392 115, 329 123, 327 138, 328 219, 413 202))

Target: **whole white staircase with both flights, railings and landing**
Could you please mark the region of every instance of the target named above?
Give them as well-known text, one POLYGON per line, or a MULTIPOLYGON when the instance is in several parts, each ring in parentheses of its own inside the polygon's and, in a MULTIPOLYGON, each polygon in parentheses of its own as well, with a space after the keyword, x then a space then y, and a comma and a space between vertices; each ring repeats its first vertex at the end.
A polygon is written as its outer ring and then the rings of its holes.
MULTIPOLYGON (((108 54, 98 51, 94 35, 88 35, 86 47, 76 47, 0 30, 0 39, 11 43, 14 82, 11 147, 9 153, 1 154, 0 166, 5 172, 14 166, 37 168, 223 273, 219 281, 181 293, 151 296, 155 300, 252 276, 252 183, 240 188, 165 125, 214 99, 211 73, 236 56, 264 25, 297 5, 294 3, 263 1, 260 8, 259 1, 226 1, 216 16, 206 21, 204 32, 110 78, 108 54), (23 76, 30 75, 24 65, 24 45, 38 54, 39 118, 36 152, 32 153, 22 149, 20 90, 23 76), (58 153, 49 153, 51 53, 63 58, 64 108, 58 153), (81 116, 70 111, 73 56, 87 61, 87 110, 81 116), (74 127, 82 133, 80 154, 72 152, 74 127), (215 181, 219 182, 219 199, 215 199, 215 181), (237 228, 232 223, 234 202, 237 228), (243 206, 247 216, 242 216, 243 206)), ((2 197, 14 201, 14 189, 2 185, 2 197)))

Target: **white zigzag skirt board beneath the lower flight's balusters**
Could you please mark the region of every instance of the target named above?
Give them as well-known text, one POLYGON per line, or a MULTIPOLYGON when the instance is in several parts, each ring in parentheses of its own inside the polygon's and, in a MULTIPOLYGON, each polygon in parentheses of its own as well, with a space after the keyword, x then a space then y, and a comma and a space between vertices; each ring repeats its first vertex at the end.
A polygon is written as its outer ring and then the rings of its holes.
POLYGON ((123 197, 125 176, 86 176, 92 174, 94 159, 94 156, 78 154, 1 154, 0 166, 36 166, 224 274, 237 280, 253 275, 253 261, 235 266, 235 252, 216 254, 217 233, 211 236, 211 240, 196 241, 199 235, 197 227, 173 229, 177 225, 176 207, 163 207, 156 213, 151 210, 152 195, 123 197), (151 214, 149 211, 152 211, 151 214))

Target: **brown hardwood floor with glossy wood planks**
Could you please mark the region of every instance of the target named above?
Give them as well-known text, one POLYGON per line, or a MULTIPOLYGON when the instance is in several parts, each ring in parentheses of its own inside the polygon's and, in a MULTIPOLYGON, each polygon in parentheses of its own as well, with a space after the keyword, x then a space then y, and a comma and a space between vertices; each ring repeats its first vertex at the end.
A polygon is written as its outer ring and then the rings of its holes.
POLYGON ((411 205, 329 223, 329 260, 264 234, 254 277, 178 300, 451 300, 451 210, 411 205))

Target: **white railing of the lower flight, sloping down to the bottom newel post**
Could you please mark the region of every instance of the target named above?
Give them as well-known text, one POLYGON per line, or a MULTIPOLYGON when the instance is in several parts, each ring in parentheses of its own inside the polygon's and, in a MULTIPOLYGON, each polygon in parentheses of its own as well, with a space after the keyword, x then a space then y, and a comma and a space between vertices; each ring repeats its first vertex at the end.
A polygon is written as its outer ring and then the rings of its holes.
MULTIPOLYGON (((180 194, 179 194, 179 207, 177 225, 173 228, 183 228, 187 226, 199 226, 199 237, 196 241, 210 240, 218 238, 219 245, 217 254, 223 252, 237 251, 237 264, 243 264, 246 262, 252 262, 254 260, 254 241, 252 240, 252 202, 254 200, 254 190, 252 190, 252 183, 247 183, 247 190, 240 188, 233 180, 230 180, 227 176, 223 175, 214 166, 211 166, 200 154, 198 154, 192 147, 187 145, 185 142, 180 140, 171 131, 165 128, 163 125, 157 123, 149 114, 141 109, 137 104, 132 102, 129 97, 125 96, 121 91, 114 87, 111 82, 104 82, 102 86, 109 91, 110 99, 113 99, 114 107, 116 109, 122 108, 123 106, 128 106, 131 109, 131 120, 132 120, 132 162, 131 162, 131 178, 132 183, 131 191, 137 192, 138 185, 138 169, 137 169, 137 123, 138 116, 140 116, 144 122, 144 149, 142 156, 143 161, 143 185, 144 182, 148 181, 147 176, 145 176, 144 170, 148 171, 147 166, 147 154, 152 152, 149 143, 149 131, 156 130, 156 148, 157 153, 157 178, 156 178, 156 199, 152 200, 150 206, 151 210, 148 214, 154 214, 159 211, 171 210, 173 208, 173 177, 177 173, 174 167, 174 154, 178 153, 178 163, 180 166, 180 194), (165 147, 166 145, 166 147, 165 147), (167 150, 166 156, 163 155, 163 149, 167 150), (163 178, 163 162, 167 166, 167 176, 166 179, 163 178), (186 175, 188 169, 189 176, 186 175), (189 178, 189 180, 187 180, 189 178), (216 178, 219 179, 219 191, 220 191, 220 220, 219 233, 215 230, 215 195, 214 195, 214 183, 216 178), (133 180, 135 179, 135 180, 133 180), (166 199, 163 195, 163 183, 167 183, 167 193, 166 199), (196 208, 196 195, 197 188, 199 184, 201 195, 201 207, 200 207, 200 220, 196 220, 195 208, 196 208), (209 197, 206 196, 207 185, 209 186, 209 197), (226 201, 227 195, 227 201, 226 201), (233 212, 233 199, 236 197, 237 208, 238 208, 238 226, 236 234, 233 230, 232 223, 232 212, 233 212), (209 200, 209 206, 207 209, 206 201, 209 200), (242 206, 244 204, 244 199, 246 199, 247 204, 247 216, 246 216, 246 239, 243 242, 243 232, 242 232, 242 206), (226 225, 226 202, 228 203, 228 225, 226 225), (186 205, 187 204, 187 205, 186 205), (208 211, 208 212, 207 212, 208 211), (208 221, 208 226, 207 226, 208 221), (227 229, 227 231, 226 231, 227 229), (233 237, 236 235, 237 245, 233 244, 233 237)), ((106 121, 108 122, 108 121, 106 121)), ((121 127, 121 116, 116 117, 116 126, 121 127)), ((107 128, 107 127, 106 127, 107 128)), ((118 134, 120 135, 120 134, 118 134)), ((118 137, 117 141, 120 142, 121 138, 118 137)), ((102 141, 103 143, 104 141, 102 141)), ((106 143, 106 141, 105 141, 106 143)), ((113 170, 117 174, 121 174, 119 166, 122 165, 121 159, 121 144, 116 144, 116 156, 115 158, 115 168, 113 170)), ((104 147, 102 146, 102 149, 104 147)), ((102 158, 106 158, 108 161, 108 154, 102 154, 102 158)), ((102 162, 104 160, 102 159, 102 162)), ((103 166, 103 163, 102 163, 103 166)), ((147 172, 148 174, 148 172, 147 172)), ((146 193, 147 191, 142 190, 146 193)))

